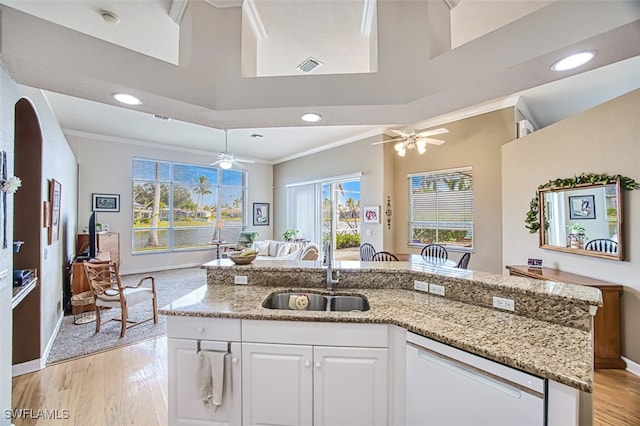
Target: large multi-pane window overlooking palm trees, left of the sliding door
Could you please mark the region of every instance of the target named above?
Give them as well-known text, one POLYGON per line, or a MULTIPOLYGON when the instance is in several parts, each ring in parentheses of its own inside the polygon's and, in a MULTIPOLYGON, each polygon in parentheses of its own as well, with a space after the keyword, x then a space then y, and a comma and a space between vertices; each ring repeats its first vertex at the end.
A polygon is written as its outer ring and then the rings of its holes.
POLYGON ((133 253, 212 248, 244 230, 246 173, 134 158, 133 253))

